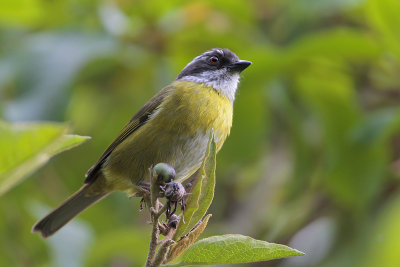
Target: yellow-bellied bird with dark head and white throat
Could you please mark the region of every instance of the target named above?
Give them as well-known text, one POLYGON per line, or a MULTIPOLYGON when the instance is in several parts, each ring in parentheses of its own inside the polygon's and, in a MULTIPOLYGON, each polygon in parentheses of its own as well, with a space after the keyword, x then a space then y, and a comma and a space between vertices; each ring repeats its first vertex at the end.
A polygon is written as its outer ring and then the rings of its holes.
POLYGON ((211 131, 217 151, 230 134, 240 74, 251 64, 227 48, 195 57, 129 120, 88 170, 83 186, 32 231, 49 237, 111 192, 135 194, 149 167, 159 162, 173 166, 177 180, 190 177, 201 165, 211 131))

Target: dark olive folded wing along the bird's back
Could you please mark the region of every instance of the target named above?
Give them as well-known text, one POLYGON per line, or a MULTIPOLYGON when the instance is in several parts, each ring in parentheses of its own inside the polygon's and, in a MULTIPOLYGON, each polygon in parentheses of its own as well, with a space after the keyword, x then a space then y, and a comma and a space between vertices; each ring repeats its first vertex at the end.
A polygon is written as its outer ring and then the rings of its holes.
POLYGON ((117 138, 111 143, 111 145, 104 151, 100 159, 94 164, 86 173, 85 183, 91 183, 96 180, 97 172, 101 169, 101 166, 111 154, 111 152, 121 144, 129 135, 134 133, 141 126, 146 124, 150 116, 157 110, 164 98, 172 91, 172 86, 167 86, 158 92, 153 98, 149 100, 125 125, 121 130, 117 138))

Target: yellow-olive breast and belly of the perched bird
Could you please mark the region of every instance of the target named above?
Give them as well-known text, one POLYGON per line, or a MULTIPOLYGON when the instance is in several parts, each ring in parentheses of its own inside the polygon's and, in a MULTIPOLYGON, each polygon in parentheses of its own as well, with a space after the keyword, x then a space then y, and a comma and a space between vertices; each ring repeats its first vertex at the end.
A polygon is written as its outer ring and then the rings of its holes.
MULTIPOLYGON (((217 149, 232 126, 232 104, 204 85, 179 81, 151 119, 131 134, 103 165, 107 190, 133 190, 148 179, 148 168, 166 162, 182 180, 193 174, 204 157, 211 129, 217 149)), ((105 182, 105 183, 104 183, 105 182)))

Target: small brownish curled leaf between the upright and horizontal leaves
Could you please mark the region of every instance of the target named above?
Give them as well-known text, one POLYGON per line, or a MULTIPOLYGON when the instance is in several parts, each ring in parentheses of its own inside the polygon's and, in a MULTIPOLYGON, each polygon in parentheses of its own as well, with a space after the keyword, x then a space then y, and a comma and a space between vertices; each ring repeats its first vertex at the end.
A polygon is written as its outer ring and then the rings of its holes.
POLYGON ((186 236, 182 237, 175 245, 173 245, 168 253, 167 261, 170 262, 178 258, 185 250, 187 250, 206 229, 211 214, 208 214, 203 221, 200 221, 186 236))

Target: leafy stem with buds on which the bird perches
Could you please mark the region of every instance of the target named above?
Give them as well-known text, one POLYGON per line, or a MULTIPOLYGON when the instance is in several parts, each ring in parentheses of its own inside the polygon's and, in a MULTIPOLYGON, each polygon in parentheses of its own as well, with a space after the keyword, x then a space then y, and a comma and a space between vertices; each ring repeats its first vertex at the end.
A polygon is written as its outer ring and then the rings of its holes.
MULTIPOLYGON (((207 227, 208 220, 211 217, 211 214, 205 217, 204 215, 207 213, 214 198, 216 147, 214 132, 212 131, 200 170, 197 175, 193 175, 190 178, 191 182, 189 183, 196 182, 196 185, 187 187, 188 190, 191 188, 196 192, 200 191, 196 193, 196 199, 191 198, 191 201, 186 204, 186 207, 192 211, 191 216, 187 217, 187 219, 190 222, 194 222, 193 227, 191 227, 190 223, 185 223, 183 212, 180 215, 181 219, 178 221, 178 227, 170 226, 171 220, 174 224, 176 221, 174 217, 168 215, 167 207, 170 204, 169 202, 165 203, 163 208, 159 210, 159 197, 157 196, 159 195, 160 182, 163 184, 164 181, 170 178, 170 174, 175 174, 175 171, 171 170, 171 166, 165 163, 158 163, 154 166, 150 186, 151 196, 150 200, 147 200, 147 202, 151 203, 149 211, 152 215, 153 230, 146 266, 161 266, 162 263, 168 263, 177 258, 181 260, 178 260, 178 263, 172 266, 249 263, 283 257, 303 256, 304 253, 287 246, 255 240, 243 235, 212 236, 196 242, 207 227), (161 226, 159 226, 161 225, 159 218, 165 211, 167 211, 167 223, 163 226, 165 237, 160 241, 158 233, 162 231, 160 230, 161 226), (196 214, 201 216, 196 217, 196 214), (188 229, 189 231, 186 233, 185 230, 188 229), (185 234, 182 235, 183 233, 185 234), (157 259, 160 260, 157 261, 157 259)), ((165 196, 169 199, 166 193, 165 196)), ((147 199, 147 197, 145 196, 144 199, 147 199)), ((181 203, 180 205, 185 204, 181 203)))

